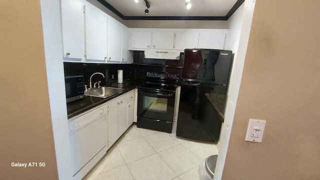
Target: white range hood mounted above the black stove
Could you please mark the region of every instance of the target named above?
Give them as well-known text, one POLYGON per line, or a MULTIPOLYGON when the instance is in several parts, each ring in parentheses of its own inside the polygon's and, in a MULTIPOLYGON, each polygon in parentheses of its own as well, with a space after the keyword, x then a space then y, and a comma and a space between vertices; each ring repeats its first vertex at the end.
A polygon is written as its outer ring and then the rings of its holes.
POLYGON ((152 59, 174 59, 179 60, 180 52, 179 51, 165 51, 165 50, 145 50, 144 58, 152 59))

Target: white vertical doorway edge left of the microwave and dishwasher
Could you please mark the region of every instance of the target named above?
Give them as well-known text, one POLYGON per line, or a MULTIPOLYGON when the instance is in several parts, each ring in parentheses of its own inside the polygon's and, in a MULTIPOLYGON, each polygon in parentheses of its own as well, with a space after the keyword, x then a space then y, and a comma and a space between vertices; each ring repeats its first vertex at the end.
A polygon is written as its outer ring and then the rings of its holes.
MULTIPOLYGON (((59 0, 40 0, 44 53, 58 177, 72 179, 59 0)), ((43 84, 45 85, 45 84, 43 84)))

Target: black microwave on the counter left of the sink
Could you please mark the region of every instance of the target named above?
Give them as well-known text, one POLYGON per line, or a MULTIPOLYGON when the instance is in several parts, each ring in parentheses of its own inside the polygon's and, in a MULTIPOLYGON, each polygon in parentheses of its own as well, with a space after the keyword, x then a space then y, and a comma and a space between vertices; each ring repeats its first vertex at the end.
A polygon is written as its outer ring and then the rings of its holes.
POLYGON ((64 77, 64 82, 66 102, 71 102, 84 97, 83 75, 66 76, 64 77))

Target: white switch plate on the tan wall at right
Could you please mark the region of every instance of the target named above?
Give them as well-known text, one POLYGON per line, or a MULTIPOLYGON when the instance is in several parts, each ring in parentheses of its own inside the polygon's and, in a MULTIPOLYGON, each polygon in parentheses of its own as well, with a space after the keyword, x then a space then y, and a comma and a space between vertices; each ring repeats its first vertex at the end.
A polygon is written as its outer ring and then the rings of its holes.
POLYGON ((265 120, 249 119, 248 129, 246 130, 246 141, 261 142, 265 120))

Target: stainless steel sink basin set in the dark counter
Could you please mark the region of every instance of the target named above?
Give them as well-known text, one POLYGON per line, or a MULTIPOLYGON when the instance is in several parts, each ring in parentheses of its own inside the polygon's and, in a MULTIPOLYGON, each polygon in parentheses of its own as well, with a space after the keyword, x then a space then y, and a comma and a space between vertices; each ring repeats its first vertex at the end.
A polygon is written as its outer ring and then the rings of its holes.
POLYGON ((121 91, 122 91, 121 88, 101 86, 101 87, 88 88, 87 90, 84 91, 84 95, 106 98, 111 95, 120 93, 121 91))

